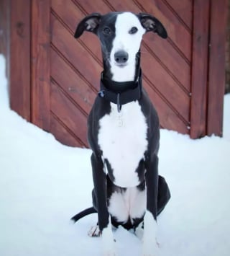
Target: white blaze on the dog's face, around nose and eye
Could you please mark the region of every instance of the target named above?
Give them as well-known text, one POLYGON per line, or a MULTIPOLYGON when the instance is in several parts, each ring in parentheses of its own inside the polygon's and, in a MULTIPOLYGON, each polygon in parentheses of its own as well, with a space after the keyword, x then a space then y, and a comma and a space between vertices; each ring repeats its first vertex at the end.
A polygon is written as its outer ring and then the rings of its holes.
POLYGON ((142 27, 139 19, 131 12, 118 14, 115 23, 116 36, 114 38, 111 50, 111 73, 114 81, 132 81, 135 75, 135 58, 140 48, 142 35, 144 35, 144 27, 142 27), (130 34, 132 27, 137 27, 137 32, 130 34), (114 60, 114 53, 124 50, 129 54, 126 66, 118 66, 114 60))

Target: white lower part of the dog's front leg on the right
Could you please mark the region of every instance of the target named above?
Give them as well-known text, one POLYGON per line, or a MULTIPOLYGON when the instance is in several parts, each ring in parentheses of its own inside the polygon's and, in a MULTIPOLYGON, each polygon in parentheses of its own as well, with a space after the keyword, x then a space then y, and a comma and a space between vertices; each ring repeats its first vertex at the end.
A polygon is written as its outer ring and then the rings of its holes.
POLYGON ((144 234, 142 256, 156 256, 157 250, 157 221, 152 216, 152 213, 146 211, 144 215, 144 234))

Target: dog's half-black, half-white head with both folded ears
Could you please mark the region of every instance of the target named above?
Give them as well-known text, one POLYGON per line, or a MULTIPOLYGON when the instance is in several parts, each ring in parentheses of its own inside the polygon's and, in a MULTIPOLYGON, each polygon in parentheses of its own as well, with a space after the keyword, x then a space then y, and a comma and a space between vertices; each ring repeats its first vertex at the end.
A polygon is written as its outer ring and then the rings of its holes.
POLYGON ((115 81, 134 79, 144 33, 152 31, 162 38, 167 38, 162 23, 145 13, 111 12, 105 15, 94 13, 78 24, 75 38, 80 37, 84 31, 98 35, 103 64, 107 69, 109 67, 111 78, 115 81))

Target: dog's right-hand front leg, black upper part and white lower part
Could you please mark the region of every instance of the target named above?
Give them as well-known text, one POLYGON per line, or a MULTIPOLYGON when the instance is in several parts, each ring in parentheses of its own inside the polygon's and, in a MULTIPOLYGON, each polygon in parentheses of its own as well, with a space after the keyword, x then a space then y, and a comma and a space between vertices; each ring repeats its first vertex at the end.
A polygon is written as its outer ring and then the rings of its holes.
POLYGON ((157 255, 157 190, 158 157, 151 156, 146 163, 147 211, 144 215, 143 256, 157 255))

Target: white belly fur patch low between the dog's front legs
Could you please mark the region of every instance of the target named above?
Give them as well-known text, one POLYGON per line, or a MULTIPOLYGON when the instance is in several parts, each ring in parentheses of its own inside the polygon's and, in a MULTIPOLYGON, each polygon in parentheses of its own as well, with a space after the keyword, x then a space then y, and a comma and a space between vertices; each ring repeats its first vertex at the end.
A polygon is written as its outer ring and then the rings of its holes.
POLYGON ((146 209, 145 190, 139 191, 137 187, 129 187, 124 193, 113 193, 109 200, 109 213, 115 216, 117 221, 126 222, 132 219, 142 218, 146 209))

